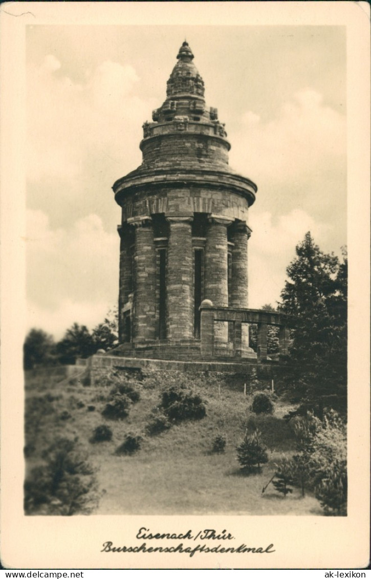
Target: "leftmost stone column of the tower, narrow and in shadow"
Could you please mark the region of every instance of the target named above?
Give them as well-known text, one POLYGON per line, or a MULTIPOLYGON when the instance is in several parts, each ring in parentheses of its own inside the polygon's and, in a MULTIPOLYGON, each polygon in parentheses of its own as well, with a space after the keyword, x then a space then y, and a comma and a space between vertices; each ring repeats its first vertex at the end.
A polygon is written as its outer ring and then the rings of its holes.
POLYGON ((133 304, 133 259, 131 246, 134 243, 133 228, 127 223, 117 227, 120 235, 120 285, 119 285, 119 343, 130 341, 130 331, 126 316, 131 317, 133 304))

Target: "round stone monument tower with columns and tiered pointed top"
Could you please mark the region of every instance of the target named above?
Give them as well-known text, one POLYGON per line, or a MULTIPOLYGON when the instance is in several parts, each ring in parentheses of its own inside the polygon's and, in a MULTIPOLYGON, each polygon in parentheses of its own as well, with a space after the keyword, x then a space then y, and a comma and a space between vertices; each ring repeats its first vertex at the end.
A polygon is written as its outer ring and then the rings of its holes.
MULTIPOLYGON (((166 100, 143 125, 142 164, 113 185, 122 207, 123 355, 197 357, 201 303, 248 307, 248 208, 257 188, 228 165, 225 125, 205 103, 193 58, 183 42, 166 100)), ((221 349, 228 349, 230 326, 215 321, 221 349)))

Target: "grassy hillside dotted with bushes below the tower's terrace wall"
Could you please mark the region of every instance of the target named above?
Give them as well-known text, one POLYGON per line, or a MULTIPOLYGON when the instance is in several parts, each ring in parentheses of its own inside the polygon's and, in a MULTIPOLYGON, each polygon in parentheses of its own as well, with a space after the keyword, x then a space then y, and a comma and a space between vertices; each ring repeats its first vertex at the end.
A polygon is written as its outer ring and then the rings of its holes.
POLYGON ((98 484, 104 490, 95 514, 322 515, 318 501, 310 495, 302 498, 297 489, 285 499, 272 485, 262 494, 274 463, 295 451, 292 430, 282 420, 287 405, 277 401, 273 415, 256 416, 249 411, 252 395, 245 397, 241 376, 152 372, 127 376, 126 381, 139 391, 140 400, 123 420, 101 415, 112 389, 110 379, 85 387, 79 380, 44 381, 42 387, 35 380, 28 383, 27 472, 43 463, 42 451, 53 439, 78 437, 99 469, 98 484), (201 395, 206 416, 149 436, 150 412, 174 382, 188 384, 201 395), (112 429, 112 440, 91 444, 100 424, 112 429), (247 426, 258 427, 269 448, 269 462, 258 474, 244 473, 236 458, 247 426), (142 436, 141 449, 132 456, 115 455, 129 432, 142 436), (219 434, 226 437, 225 452, 214 453, 212 443, 219 434))

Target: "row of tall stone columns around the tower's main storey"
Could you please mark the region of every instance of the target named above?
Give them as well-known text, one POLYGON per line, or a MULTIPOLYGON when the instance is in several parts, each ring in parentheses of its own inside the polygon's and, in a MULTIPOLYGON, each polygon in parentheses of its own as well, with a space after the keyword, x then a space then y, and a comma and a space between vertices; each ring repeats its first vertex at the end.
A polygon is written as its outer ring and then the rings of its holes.
MULTIPOLYGON (((194 250, 192 215, 170 216, 166 266, 166 338, 194 335, 194 250)), ((159 268, 150 217, 131 218, 120 228, 119 340, 146 342, 159 338, 159 268), (130 331, 126 323, 131 312, 130 331)), ((247 241, 245 223, 211 215, 205 229, 203 299, 216 306, 247 307, 247 241), (228 228, 230 236, 228 236, 228 228), (230 243, 228 242, 230 237, 230 243), (230 247, 230 249, 229 249, 230 247), (232 276, 228 287, 228 252, 232 276), (230 289, 230 291, 229 291, 230 289)), ((227 325, 216 328, 216 340, 227 340, 227 325), (218 338, 219 335, 219 338, 218 338)))

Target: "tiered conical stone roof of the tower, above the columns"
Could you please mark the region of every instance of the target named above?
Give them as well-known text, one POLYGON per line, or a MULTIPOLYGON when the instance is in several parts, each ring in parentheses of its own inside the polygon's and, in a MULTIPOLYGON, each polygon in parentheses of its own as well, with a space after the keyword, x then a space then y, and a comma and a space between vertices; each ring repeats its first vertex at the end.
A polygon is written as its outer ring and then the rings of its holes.
POLYGON ((145 178, 148 183, 156 175, 157 184, 161 180, 168 184, 171 179, 184 184, 196 174, 199 180, 215 181, 218 188, 226 179, 229 192, 234 186, 249 205, 254 203, 256 186, 229 167, 225 124, 218 119, 218 109, 207 106, 204 81, 193 60, 192 49, 184 41, 167 81, 166 99, 152 111, 152 122, 143 124, 142 163, 113 185, 117 203, 123 202, 134 181, 145 178))

